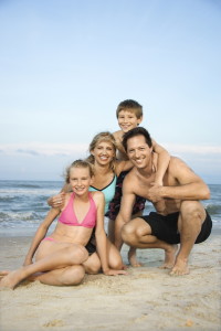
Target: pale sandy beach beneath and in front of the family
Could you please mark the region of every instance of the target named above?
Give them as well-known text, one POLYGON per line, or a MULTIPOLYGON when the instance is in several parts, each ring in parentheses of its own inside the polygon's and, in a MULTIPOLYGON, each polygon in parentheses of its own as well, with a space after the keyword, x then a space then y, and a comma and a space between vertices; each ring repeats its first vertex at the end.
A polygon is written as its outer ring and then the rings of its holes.
MULTIPOLYGON (((31 237, 0 238, 0 269, 23 263, 31 237)), ((123 247, 127 261, 127 247, 123 247)), ((23 282, 0 290, 0 330, 221 330, 221 237, 196 245, 190 275, 158 268, 160 249, 138 250, 140 268, 127 276, 86 276, 77 287, 23 282)))

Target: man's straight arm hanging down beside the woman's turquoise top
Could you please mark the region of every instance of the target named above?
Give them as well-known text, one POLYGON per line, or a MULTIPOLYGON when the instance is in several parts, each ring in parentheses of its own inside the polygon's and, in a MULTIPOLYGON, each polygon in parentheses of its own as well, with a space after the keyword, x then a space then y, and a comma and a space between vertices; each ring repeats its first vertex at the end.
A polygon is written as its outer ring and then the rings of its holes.
POLYGON ((133 206, 135 204, 136 195, 131 190, 129 183, 129 175, 127 175, 123 183, 123 196, 120 202, 120 210, 115 220, 115 246, 120 250, 123 245, 122 228, 131 220, 133 206))

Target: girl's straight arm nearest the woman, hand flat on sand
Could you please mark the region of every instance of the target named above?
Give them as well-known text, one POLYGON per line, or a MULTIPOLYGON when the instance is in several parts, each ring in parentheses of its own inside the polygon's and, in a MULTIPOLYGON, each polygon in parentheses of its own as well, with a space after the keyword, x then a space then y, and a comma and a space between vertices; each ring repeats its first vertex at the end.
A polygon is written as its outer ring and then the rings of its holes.
POLYGON ((114 276, 119 274, 126 274, 124 270, 114 270, 109 268, 108 257, 107 257, 107 237, 104 231, 104 206, 105 200, 102 192, 94 192, 93 197, 97 206, 97 220, 96 220, 96 247, 97 254, 101 259, 102 270, 107 276, 114 276))

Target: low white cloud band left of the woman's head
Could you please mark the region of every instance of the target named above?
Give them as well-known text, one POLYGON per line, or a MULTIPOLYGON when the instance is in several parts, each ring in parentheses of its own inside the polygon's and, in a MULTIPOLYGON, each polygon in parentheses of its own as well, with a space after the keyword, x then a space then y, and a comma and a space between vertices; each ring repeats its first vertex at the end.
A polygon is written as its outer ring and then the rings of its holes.
POLYGON ((72 156, 75 153, 87 152, 88 146, 86 143, 7 143, 0 145, 0 150, 4 154, 27 154, 32 157, 38 156, 72 156))

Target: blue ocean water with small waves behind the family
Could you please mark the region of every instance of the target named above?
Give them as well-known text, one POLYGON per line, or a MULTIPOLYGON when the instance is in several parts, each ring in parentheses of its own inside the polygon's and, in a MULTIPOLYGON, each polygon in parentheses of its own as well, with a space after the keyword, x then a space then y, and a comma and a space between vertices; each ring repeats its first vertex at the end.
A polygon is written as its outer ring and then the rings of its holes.
MULTIPOLYGON (((62 181, 0 181, 0 235, 33 235, 50 209, 46 200, 62 186, 62 181)), ((202 203, 215 231, 221 228, 221 184, 209 188, 211 199, 202 203)), ((147 202, 146 213, 151 210, 147 202)))

